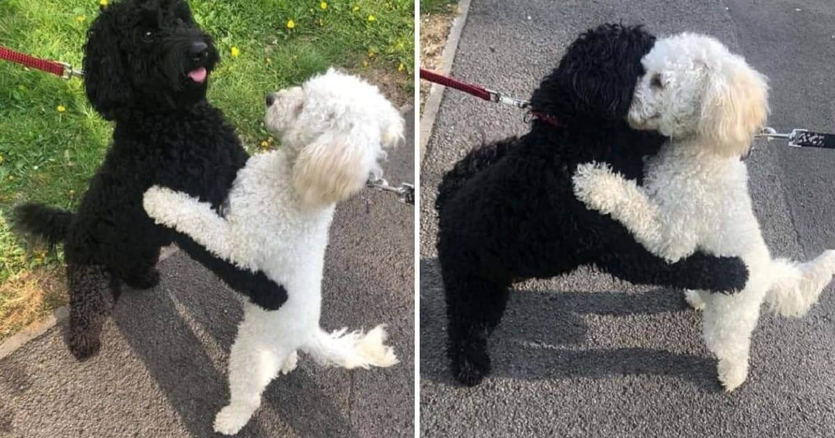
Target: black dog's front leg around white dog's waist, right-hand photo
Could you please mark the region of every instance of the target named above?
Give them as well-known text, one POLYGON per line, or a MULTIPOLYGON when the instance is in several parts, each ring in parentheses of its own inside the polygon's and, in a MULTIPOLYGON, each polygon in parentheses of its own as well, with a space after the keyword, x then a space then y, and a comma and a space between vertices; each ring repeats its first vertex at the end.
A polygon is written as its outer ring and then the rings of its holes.
POLYGON ((716 257, 697 252, 670 264, 651 254, 630 234, 619 237, 605 243, 595 263, 620 279, 725 294, 744 289, 748 281, 748 269, 738 257, 716 257))

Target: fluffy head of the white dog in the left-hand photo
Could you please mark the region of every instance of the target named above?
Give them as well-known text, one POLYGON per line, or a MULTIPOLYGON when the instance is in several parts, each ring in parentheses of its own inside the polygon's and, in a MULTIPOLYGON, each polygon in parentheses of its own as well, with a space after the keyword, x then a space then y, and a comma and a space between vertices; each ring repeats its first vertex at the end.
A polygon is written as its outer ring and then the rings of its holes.
POLYGON ((308 206, 347 199, 382 175, 383 148, 403 139, 403 118, 377 87, 331 68, 267 96, 266 127, 296 153, 293 187, 308 206))

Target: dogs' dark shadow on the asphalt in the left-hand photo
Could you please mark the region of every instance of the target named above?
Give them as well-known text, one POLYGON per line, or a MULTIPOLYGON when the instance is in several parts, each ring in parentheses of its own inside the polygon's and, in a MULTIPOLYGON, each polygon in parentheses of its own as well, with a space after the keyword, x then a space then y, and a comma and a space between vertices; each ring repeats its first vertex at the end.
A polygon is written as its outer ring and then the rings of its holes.
MULTIPOLYGON (((229 400, 226 367, 243 310, 213 274, 182 254, 159 270, 158 287, 124 290, 114 321, 190 435, 214 436, 215 414, 229 400)), ((261 408, 235 436, 356 436, 334 390, 322 388, 333 380, 321 377, 326 371, 300 357, 296 370, 267 386, 261 408)))

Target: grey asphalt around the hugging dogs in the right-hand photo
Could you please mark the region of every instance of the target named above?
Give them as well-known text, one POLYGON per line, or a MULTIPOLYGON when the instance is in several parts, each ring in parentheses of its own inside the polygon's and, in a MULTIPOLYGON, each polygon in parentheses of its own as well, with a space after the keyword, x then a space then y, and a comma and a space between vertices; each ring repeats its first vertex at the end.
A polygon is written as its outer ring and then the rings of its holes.
MULTIPOLYGON (((453 75, 525 98, 586 28, 645 23, 709 33, 771 78, 770 124, 835 132, 831 0, 473 0, 453 75)), ((835 435, 835 288, 802 320, 763 310, 751 373, 731 394, 678 290, 581 270, 517 284, 491 338, 493 375, 466 389, 443 355, 433 211, 440 177, 523 114, 448 90, 422 167, 421 430, 424 436, 835 435)), ((777 256, 835 248, 835 151, 757 143, 751 195, 777 256)))

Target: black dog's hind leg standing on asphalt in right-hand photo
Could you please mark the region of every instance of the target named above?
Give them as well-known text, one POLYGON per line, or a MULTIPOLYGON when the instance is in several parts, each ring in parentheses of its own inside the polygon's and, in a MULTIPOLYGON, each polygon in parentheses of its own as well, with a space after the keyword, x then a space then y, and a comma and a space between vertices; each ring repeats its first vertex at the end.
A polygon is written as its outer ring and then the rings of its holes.
POLYGON ((490 372, 487 338, 508 302, 508 284, 474 275, 446 272, 448 345, 453 376, 463 385, 478 385, 490 372))

